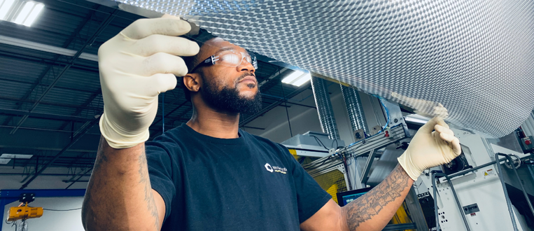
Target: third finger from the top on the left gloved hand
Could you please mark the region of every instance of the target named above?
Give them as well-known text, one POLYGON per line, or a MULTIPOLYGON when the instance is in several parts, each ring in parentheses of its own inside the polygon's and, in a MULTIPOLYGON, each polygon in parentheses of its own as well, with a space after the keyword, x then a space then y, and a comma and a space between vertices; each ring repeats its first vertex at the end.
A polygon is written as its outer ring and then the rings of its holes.
MULTIPOLYGON (((132 66, 132 68, 136 68, 132 66)), ((146 57, 138 72, 141 76, 153 76, 156 73, 172 73, 175 76, 185 76, 188 73, 188 66, 183 59, 176 55, 159 52, 146 57)))

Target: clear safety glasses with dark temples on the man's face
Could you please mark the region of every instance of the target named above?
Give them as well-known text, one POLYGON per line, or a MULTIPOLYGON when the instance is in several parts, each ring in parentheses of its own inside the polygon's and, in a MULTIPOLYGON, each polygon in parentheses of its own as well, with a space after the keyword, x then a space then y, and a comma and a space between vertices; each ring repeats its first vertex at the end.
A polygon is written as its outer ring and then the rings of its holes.
POLYGON ((253 53, 249 54, 246 52, 239 52, 235 50, 226 50, 223 52, 218 52, 215 55, 211 55, 211 57, 200 62, 191 70, 191 73, 195 73, 195 71, 202 66, 243 66, 245 62, 252 64, 252 66, 254 66, 254 69, 258 69, 258 60, 256 60, 256 56, 253 53))

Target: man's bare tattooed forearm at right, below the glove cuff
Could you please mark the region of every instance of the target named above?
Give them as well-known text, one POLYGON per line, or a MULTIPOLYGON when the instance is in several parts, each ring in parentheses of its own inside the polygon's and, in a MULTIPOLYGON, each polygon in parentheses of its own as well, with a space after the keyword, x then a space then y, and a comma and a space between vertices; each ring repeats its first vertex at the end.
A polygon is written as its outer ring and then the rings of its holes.
POLYGON ((342 208, 349 230, 382 230, 405 200, 412 183, 397 165, 378 186, 342 208))

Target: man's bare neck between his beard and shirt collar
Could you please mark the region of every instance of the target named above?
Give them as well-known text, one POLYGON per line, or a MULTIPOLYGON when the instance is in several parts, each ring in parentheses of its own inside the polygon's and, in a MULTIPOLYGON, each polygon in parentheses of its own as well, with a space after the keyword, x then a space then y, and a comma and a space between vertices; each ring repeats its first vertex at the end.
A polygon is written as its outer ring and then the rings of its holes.
POLYGON ((209 137, 220 139, 239 137, 239 113, 215 111, 207 105, 193 106, 193 114, 187 125, 209 137))

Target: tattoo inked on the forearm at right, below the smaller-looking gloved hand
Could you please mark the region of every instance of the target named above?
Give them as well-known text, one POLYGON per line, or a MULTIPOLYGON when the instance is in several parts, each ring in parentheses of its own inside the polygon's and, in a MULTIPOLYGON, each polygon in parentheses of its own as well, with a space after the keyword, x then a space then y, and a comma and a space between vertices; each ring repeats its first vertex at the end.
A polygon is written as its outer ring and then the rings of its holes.
POLYGON ((349 225, 349 230, 356 230, 361 223, 369 221, 373 216, 379 214, 387 204, 401 197, 402 191, 408 186, 408 174, 400 165, 397 165, 393 172, 377 187, 343 207, 346 211, 346 222, 349 225))

